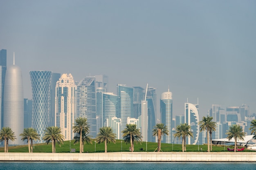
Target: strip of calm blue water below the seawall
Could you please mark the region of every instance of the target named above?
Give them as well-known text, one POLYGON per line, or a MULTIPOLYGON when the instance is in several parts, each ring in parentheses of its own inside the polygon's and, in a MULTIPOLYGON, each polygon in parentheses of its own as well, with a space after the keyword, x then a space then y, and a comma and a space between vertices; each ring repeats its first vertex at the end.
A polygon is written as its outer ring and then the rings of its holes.
POLYGON ((0 170, 255 170, 256 163, 0 162, 0 170))

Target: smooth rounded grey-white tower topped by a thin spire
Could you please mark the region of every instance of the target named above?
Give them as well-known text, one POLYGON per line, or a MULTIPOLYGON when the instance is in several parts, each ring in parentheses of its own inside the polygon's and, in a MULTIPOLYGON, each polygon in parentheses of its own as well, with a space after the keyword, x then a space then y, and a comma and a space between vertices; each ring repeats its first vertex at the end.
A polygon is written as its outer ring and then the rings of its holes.
POLYGON ((4 127, 13 130, 17 139, 9 141, 11 145, 23 145, 20 134, 24 128, 24 99, 21 70, 14 62, 8 66, 4 83, 4 127))

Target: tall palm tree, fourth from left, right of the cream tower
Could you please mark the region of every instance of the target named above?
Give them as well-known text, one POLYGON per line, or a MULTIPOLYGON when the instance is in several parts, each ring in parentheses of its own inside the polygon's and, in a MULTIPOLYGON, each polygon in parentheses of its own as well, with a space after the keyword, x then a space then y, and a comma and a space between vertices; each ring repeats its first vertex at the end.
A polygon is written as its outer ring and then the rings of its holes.
POLYGON ((80 133, 80 153, 82 153, 82 132, 84 131, 85 134, 88 134, 90 132, 90 126, 88 125, 86 118, 77 117, 75 121, 76 123, 73 126, 73 132, 80 133))

